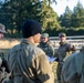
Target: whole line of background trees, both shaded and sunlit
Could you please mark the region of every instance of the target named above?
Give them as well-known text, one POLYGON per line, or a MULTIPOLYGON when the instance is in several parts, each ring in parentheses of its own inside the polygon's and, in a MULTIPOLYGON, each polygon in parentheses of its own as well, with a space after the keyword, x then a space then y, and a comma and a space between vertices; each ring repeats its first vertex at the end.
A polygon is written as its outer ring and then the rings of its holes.
MULTIPOLYGON (((27 19, 35 19, 43 32, 56 35, 55 32, 83 29, 84 8, 78 1, 73 11, 69 7, 62 15, 57 15, 51 8, 55 0, 4 0, 0 1, 0 22, 7 28, 9 34, 20 34, 21 27, 27 19)), ((70 33, 71 34, 71 33, 70 33)))

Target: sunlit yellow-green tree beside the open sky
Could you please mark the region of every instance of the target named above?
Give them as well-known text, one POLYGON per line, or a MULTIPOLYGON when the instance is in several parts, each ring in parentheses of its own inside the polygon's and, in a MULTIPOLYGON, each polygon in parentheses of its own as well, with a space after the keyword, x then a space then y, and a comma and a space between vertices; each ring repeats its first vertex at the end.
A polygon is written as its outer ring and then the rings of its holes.
POLYGON ((61 28, 57 21, 57 14, 46 4, 46 1, 42 2, 41 23, 43 31, 61 28))

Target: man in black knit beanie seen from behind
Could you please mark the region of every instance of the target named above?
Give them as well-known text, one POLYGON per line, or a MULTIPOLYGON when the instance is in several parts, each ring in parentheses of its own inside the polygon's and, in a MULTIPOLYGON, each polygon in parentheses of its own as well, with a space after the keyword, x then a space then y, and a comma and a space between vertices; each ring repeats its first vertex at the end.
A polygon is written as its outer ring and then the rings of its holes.
POLYGON ((13 83, 54 83, 45 53, 35 45, 40 42, 40 23, 28 19, 22 27, 22 35, 20 44, 14 45, 8 54, 13 83))

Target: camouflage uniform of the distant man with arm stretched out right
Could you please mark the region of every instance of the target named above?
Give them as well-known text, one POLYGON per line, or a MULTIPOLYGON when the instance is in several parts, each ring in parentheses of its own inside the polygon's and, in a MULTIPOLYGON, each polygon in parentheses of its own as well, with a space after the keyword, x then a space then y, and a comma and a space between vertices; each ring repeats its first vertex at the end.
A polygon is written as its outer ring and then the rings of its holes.
POLYGON ((57 52, 56 52, 56 58, 59 59, 59 64, 56 69, 59 83, 61 82, 61 71, 62 71, 63 63, 65 59, 72 53, 71 51, 74 51, 72 50, 71 44, 69 44, 67 42, 60 43, 60 48, 57 49, 57 52))

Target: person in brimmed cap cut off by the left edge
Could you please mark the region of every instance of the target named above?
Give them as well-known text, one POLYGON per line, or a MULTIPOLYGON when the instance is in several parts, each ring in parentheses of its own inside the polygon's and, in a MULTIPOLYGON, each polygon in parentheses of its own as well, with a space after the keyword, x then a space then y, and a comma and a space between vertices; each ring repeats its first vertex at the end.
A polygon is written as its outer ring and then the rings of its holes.
MULTIPOLYGON (((3 38, 4 33, 7 33, 7 31, 4 30, 4 25, 0 23, 0 40, 3 38)), ((6 69, 6 72, 10 73, 9 68, 8 68, 8 62, 3 58, 3 53, 0 51, 0 83, 4 79, 3 69, 6 69)))

